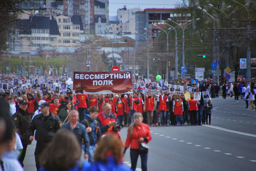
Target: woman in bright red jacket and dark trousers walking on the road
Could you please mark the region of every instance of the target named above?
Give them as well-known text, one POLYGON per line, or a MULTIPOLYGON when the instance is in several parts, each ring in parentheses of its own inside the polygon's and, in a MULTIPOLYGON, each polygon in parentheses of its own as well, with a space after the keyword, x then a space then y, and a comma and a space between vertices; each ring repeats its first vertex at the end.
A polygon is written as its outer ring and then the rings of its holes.
POLYGON ((135 171, 138 161, 138 156, 140 155, 141 159, 141 167, 143 171, 147 170, 147 160, 148 160, 148 152, 147 153, 139 153, 138 148, 140 142, 148 143, 152 139, 149 126, 147 124, 142 123, 143 117, 141 113, 135 113, 134 121, 128 128, 127 138, 124 145, 124 153, 126 149, 130 147, 130 158, 132 167, 131 169, 135 171))

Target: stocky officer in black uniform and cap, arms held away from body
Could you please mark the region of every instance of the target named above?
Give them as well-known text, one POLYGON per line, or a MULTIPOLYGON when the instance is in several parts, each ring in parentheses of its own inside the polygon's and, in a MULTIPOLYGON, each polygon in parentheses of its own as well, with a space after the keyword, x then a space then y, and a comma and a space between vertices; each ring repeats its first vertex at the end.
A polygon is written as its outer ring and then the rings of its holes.
POLYGON ((40 169, 39 156, 52 140, 54 133, 60 129, 62 123, 58 116, 49 111, 50 104, 44 102, 41 104, 41 114, 36 115, 28 126, 28 137, 30 141, 34 140, 34 131, 36 130, 35 140, 35 160, 36 168, 40 169))

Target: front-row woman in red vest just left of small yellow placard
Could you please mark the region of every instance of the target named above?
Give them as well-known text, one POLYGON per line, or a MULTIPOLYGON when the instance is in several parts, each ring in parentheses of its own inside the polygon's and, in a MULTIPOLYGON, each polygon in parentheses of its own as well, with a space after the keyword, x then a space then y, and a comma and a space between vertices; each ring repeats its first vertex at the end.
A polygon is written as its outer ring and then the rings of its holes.
POLYGON ((183 114, 184 108, 183 108, 183 102, 182 100, 180 100, 179 94, 176 94, 176 99, 174 100, 172 105, 173 105, 172 112, 174 113, 176 118, 176 126, 180 126, 180 125, 183 126, 182 114, 183 114))

